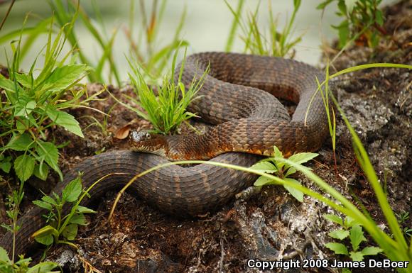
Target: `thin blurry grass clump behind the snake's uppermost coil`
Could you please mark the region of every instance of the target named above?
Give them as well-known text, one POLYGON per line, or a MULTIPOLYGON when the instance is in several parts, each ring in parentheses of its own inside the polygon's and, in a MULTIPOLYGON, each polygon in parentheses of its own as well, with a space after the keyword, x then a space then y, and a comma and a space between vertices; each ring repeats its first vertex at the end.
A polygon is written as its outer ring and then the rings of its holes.
POLYGON ((229 51, 232 48, 233 33, 240 26, 241 38, 244 42, 244 52, 254 55, 269 55, 276 57, 293 57, 293 48, 300 43, 302 35, 297 38, 292 38, 293 35, 293 23, 295 22, 296 13, 300 7, 300 0, 293 0, 293 13, 290 20, 286 20, 285 27, 282 30, 278 30, 278 18, 273 16, 271 1, 268 1, 269 10, 269 30, 262 30, 258 24, 259 5, 256 7, 254 13, 249 13, 244 18, 242 13, 242 2, 239 2, 239 6, 235 11, 232 6, 225 0, 225 3, 229 7, 234 16, 232 23, 231 35, 227 40, 226 50, 229 51))

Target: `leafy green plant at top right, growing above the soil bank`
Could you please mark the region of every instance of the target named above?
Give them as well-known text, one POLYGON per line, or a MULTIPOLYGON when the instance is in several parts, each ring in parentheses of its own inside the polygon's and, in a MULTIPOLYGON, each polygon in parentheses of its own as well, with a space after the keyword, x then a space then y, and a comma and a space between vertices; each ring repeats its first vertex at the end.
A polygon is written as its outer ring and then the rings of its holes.
POLYGON ((343 18, 339 26, 332 26, 339 34, 339 48, 344 48, 352 37, 357 37, 357 43, 374 48, 386 35, 384 15, 378 7, 381 0, 325 0, 317 9, 326 9, 333 2, 337 16, 343 18))

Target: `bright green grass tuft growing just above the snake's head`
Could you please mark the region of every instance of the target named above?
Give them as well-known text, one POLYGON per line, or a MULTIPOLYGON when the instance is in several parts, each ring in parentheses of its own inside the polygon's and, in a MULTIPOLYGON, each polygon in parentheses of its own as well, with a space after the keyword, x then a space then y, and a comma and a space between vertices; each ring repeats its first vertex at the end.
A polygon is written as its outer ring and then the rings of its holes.
POLYGON ((186 51, 180 66, 179 77, 178 79, 173 79, 176 74, 175 64, 177 53, 176 51, 173 56, 171 74, 166 74, 166 76, 163 77, 162 84, 155 86, 148 86, 141 73, 141 67, 139 67, 136 62, 131 63, 129 60, 129 65, 132 70, 132 73, 129 73, 129 77, 139 100, 131 97, 128 97, 128 99, 141 106, 146 113, 143 113, 138 108, 126 106, 142 118, 150 121, 156 133, 165 135, 175 133, 175 130, 179 128, 183 121, 187 121, 189 118, 196 116, 195 113, 186 111, 186 108, 191 101, 196 99, 197 91, 202 87, 207 72, 209 71, 209 69, 206 69, 199 79, 193 79, 190 86, 185 87, 181 82, 181 78, 185 66, 186 51), (156 92, 153 91, 154 89, 157 90, 157 95, 156 92))

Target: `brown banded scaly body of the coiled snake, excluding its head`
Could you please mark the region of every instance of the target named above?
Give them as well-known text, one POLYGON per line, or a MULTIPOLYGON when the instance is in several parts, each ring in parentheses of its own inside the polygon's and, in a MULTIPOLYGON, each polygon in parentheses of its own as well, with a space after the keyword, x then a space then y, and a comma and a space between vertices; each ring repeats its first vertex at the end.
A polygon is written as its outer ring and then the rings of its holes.
MULTIPOLYGON (((207 52, 191 55, 186 60, 182 79, 186 86, 195 74, 202 74, 202 69, 207 67, 209 61, 210 74, 200 91, 203 96, 191 104, 190 111, 202 116, 208 123, 223 125, 207 133, 207 139, 210 140, 208 147, 202 144, 202 148, 198 148, 200 142, 197 138, 203 137, 190 136, 185 140, 187 145, 177 145, 175 149, 178 153, 194 151, 195 157, 203 158, 200 153, 221 147, 223 152, 247 150, 267 155, 272 146, 277 145, 290 155, 296 151, 312 151, 320 147, 327 135, 327 121, 319 92, 313 97, 304 124, 305 111, 318 87, 315 75, 320 82, 324 79, 318 69, 278 57, 207 52), (298 104, 291 119, 286 109, 271 94, 298 104)), ((170 138, 170 149, 173 149, 173 141, 181 140, 170 138)), ((259 155, 227 152, 212 160, 249 167, 259 159, 259 155)), ((168 162, 166 158, 148 153, 127 150, 106 152, 89 157, 70 169, 65 174, 64 182, 59 183, 53 191, 60 194, 78 172, 84 173, 82 182, 85 188, 106 174, 123 173, 99 182, 90 191, 91 198, 82 202, 83 206, 87 206, 104 192, 123 186, 135 174, 165 162, 168 162)), ((205 164, 193 167, 173 165, 146 174, 134 182, 131 188, 161 211, 178 216, 197 216, 219 208, 234 194, 251 185, 255 178, 251 174, 205 164)), ((65 208, 65 211, 68 209, 65 208)), ((21 228, 16 233, 17 254, 28 252, 29 247, 33 247, 31 234, 45 225, 42 217, 44 213, 43 209, 35 207, 18 221, 21 228)), ((12 238, 11 233, 6 233, 0 242, 8 252, 11 252, 12 238)))

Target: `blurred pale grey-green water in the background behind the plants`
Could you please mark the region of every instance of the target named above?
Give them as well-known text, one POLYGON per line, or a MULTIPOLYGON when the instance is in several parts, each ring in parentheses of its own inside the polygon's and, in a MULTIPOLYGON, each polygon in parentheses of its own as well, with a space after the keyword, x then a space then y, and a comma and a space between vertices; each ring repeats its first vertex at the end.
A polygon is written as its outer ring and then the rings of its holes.
MULTIPOLYGON (((133 1, 133 0, 131 0, 133 1)), ((244 11, 253 12, 256 6, 259 5, 259 25, 266 29, 269 28, 269 12, 268 0, 261 0, 260 5, 257 0, 246 0, 244 11)), ((270 1, 270 0, 269 0, 270 1)), ((139 4, 136 7, 139 8, 139 4)), ((228 0, 233 7, 237 6, 237 0, 228 0)), ((316 6, 320 4, 320 0, 303 0, 296 15, 296 21, 293 28, 293 37, 303 35, 302 41, 296 45, 296 60, 308 62, 312 65, 317 65, 320 60, 322 50, 320 46, 322 41, 330 42, 337 36, 337 32, 332 29, 331 25, 337 25, 340 18, 335 15, 335 4, 329 6, 325 13, 317 10, 316 6)), ((384 4, 393 2, 391 0, 384 1, 384 4)), ((92 1, 82 0, 82 7, 87 14, 93 19, 94 10, 92 1)), ((99 10, 102 13, 104 26, 94 22, 96 26, 107 35, 107 38, 112 35, 113 31, 119 29, 114 41, 114 61, 119 67, 121 79, 126 80, 128 64, 125 55, 128 55, 129 43, 126 39, 124 29, 129 23, 129 0, 98 0, 95 1, 99 10)), ((285 25, 286 19, 291 17, 293 12, 292 0, 272 0, 273 13, 278 16, 278 24, 280 28, 285 25)), ((4 16, 9 4, 0 6, 1 17, 4 16)), ((151 7, 151 1, 146 1, 146 7, 151 7)), ((159 47, 166 45, 175 33, 175 28, 178 26, 180 16, 183 10, 186 9, 185 24, 182 30, 182 38, 188 40, 190 46, 188 54, 202 51, 222 51, 227 43, 229 29, 232 24, 233 16, 229 8, 223 0, 169 0, 166 4, 163 22, 159 29, 159 47)), ((45 0, 18 0, 14 4, 11 14, 0 31, 0 35, 4 35, 11 30, 21 28, 26 14, 30 12, 28 23, 26 26, 31 26, 42 18, 50 16, 50 6, 45 0)), ((150 13, 149 13, 150 14, 150 13)), ((135 23, 140 23, 140 18, 135 18, 135 23)), ((77 23, 76 25, 78 43, 80 48, 92 60, 97 62, 99 56, 102 55, 102 50, 97 46, 96 40, 92 38, 85 27, 77 23)), ((35 45, 30 53, 24 58, 21 69, 29 69, 34 58, 46 43, 47 36, 36 40, 35 45)), ((6 55, 10 57, 10 45, 4 43, 0 50, 0 64, 6 65, 6 55)), ((244 44, 238 37, 234 40, 232 51, 242 52, 244 44)), ((41 55, 40 55, 41 58, 41 55)))

